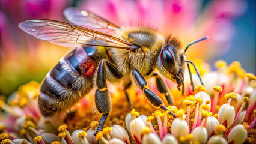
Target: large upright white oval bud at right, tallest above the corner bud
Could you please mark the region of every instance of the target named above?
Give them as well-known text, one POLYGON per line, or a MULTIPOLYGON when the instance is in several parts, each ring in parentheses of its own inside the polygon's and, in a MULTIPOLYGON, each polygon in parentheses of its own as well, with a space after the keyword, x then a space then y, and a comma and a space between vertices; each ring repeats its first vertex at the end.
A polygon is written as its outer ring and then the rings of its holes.
POLYGON ((219 109, 219 113, 218 113, 219 123, 223 124, 223 122, 227 120, 227 128, 229 128, 234 121, 234 117, 235 117, 234 107, 230 106, 230 104, 223 104, 219 109))

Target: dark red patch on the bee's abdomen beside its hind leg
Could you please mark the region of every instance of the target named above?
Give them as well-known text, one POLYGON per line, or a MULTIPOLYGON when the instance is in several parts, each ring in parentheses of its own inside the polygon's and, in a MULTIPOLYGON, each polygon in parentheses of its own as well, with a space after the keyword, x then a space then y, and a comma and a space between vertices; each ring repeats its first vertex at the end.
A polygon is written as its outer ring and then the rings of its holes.
POLYGON ((97 62, 88 57, 79 65, 80 70, 84 77, 88 77, 89 79, 93 79, 93 75, 95 73, 97 67, 97 62))

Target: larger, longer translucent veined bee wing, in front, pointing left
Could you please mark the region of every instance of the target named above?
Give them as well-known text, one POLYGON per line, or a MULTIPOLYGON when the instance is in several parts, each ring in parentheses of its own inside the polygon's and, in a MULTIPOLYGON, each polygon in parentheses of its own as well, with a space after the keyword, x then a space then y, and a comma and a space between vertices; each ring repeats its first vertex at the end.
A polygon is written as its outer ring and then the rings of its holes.
POLYGON ((20 23, 19 28, 41 40, 47 40, 59 46, 106 46, 120 49, 130 47, 129 42, 120 38, 56 20, 27 20, 20 23))

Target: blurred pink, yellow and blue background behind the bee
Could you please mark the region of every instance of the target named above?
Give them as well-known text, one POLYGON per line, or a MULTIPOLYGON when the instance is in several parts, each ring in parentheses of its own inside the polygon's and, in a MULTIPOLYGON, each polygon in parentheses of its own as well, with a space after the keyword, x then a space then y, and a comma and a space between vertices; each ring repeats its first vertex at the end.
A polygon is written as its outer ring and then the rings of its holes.
POLYGON ((0 95, 8 96, 31 80, 41 82, 67 47, 38 40, 18 28, 29 19, 66 21, 67 7, 91 10, 118 26, 150 23, 163 35, 172 33, 183 46, 209 35, 210 39, 187 50, 188 59, 200 58, 212 65, 218 59, 239 61, 256 72, 255 1, 250 0, 1 0, 0 95))

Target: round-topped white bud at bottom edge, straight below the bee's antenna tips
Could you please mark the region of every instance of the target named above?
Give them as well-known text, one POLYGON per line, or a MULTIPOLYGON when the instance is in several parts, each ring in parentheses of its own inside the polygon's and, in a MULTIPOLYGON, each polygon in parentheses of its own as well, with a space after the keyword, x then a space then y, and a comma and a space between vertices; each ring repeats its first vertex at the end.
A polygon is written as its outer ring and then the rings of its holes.
POLYGON ((205 127, 196 127, 194 130, 192 130, 192 135, 193 135, 193 142, 197 140, 201 144, 206 143, 208 139, 208 133, 205 127))

